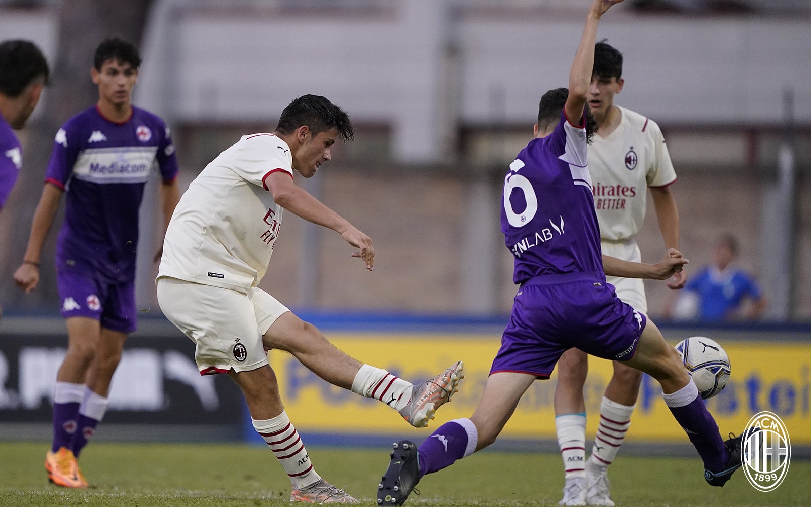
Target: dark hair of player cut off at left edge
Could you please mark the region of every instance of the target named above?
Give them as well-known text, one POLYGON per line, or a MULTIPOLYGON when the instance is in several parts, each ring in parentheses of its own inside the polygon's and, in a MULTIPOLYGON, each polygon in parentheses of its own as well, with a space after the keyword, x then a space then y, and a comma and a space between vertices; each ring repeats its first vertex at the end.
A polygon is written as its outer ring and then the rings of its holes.
POLYGON ((38 77, 48 83, 48 62, 32 41, 13 39, 0 43, 0 93, 19 97, 38 77))

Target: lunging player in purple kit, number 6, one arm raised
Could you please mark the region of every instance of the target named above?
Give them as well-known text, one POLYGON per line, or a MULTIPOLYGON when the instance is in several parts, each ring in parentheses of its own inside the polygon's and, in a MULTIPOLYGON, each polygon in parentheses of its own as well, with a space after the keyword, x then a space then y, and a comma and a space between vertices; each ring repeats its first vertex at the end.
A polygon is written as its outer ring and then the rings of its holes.
POLYGON ((740 465, 740 442, 724 442, 698 389, 662 333, 616 297, 606 274, 664 280, 687 260, 668 249, 659 264, 602 256, 587 164, 596 122, 586 108, 594 40, 603 14, 621 0, 594 0, 571 71, 569 89, 543 95, 534 140, 504 178, 501 230, 515 256, 520 285, 501 348, 470 419, 444 423, 419 447, 394 444, 378 485, 379 505, 401 505, 423 477, 491 445, 536 379, 548 379, 560 355, 576 347, 624 361, 662 385, 665 403, 704 462, 710 485, 723 486, 740 465))

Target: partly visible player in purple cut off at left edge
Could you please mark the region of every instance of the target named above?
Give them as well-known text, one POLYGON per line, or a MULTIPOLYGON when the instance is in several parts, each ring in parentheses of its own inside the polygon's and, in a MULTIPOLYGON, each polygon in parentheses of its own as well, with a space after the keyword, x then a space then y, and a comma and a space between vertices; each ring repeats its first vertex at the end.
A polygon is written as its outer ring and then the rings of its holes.
POLYGON ((0 42, 0 210, 23 167, 23 148, 12 129, 25 127, 48 75, 48 62, 33 42, 0 42))

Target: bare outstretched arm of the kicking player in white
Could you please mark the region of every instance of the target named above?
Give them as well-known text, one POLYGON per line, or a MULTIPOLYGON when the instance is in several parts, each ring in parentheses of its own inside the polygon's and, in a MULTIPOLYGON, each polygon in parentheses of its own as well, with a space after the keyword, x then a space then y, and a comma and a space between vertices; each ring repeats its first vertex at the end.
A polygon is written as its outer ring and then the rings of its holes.
POLYGON ((375 263, 375 249, 371 245, 371 238, 326 204, 315 199, 308 191, 293 183, 290 174, 282 171, 272 173, 264 179, 264 184, 268 187, 276 204, 304 220, 334 230, 341 234, 341 238, 344 238, 346 243, 360 248, 360 251, 353 256, 364 260, 366 268, 371 271, 372 264, 375 263))

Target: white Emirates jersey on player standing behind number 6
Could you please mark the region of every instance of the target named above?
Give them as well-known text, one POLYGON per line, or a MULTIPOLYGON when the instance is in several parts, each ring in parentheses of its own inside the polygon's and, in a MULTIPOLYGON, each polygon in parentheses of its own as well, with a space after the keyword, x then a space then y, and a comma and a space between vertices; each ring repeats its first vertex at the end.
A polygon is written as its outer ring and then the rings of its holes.
POLYGON ((594 208, 603 241, 630 241, 645 221, 647 187, 676 181, 659 125, 617 106, 620 125, 606 137, 599 131, 589 146, 594 208))

